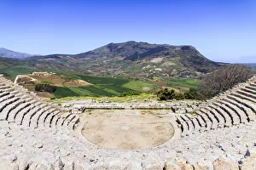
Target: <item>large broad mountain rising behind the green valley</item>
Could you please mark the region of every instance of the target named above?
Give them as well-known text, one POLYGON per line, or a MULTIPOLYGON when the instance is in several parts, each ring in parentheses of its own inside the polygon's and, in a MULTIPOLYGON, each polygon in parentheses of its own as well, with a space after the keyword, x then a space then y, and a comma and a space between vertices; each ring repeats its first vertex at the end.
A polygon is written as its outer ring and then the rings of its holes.
POLYGON ((166 77, 197 76, 217 69, 214 62, 189 45, 173 46, 148 42, 109 43, 81 54, 50 54, 26 60, 35 68, 65 68, 96 76, 166 77))

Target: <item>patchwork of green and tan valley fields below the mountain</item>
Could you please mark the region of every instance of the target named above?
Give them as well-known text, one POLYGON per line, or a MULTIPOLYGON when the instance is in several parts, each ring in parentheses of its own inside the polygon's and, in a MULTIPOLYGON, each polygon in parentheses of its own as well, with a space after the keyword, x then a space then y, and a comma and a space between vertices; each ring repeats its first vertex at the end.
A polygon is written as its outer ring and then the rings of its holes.
MULTIPOLYGON (((196 78, 161 78, 158 80, 137 79, 131 77, 91 77, 85 75, 71 75, 65 73, 54 73, 47 76, 35 76, 32 74, 22 75, 19 84, 30 91, 35 91, 36 84, 47 83, 55 86, 53 94, 40 92, 38 96, 44 99, 60 99, 67 97, 118 97, 129 92, 139 94, 152 94, 161 88, 173 88, 177 92, 189 91, 189 88, 197 88, 196 78), (49 96, 49 98, 46 98, 49 96)), ((156 98, 156 97, 154 97, 156 98)))

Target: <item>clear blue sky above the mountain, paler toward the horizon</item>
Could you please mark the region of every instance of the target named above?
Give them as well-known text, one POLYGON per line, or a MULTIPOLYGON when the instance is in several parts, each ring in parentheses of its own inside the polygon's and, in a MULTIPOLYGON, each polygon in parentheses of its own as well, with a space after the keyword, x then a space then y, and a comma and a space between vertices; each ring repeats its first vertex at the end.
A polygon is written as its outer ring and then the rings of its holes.
POLYGON ((255 0, 1 0, 0 47, 79 54, 109 42, 189 44, 215 61, 256 62, 255 0))

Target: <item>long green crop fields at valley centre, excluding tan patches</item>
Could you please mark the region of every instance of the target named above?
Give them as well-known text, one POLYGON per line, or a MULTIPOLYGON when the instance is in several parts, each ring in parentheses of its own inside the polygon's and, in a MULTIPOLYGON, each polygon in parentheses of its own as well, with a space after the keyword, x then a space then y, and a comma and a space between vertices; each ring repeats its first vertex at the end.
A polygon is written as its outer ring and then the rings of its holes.
POLYGON ((63 98, 68 96, 117 96, 119 94, 137 91, 147 92, 152 89, 160 88, 151 82, 131 81, 125 77, 89 77, 84 75, 77 75, 76 78, 90 82, 93 85, 84 87, 57 87, 55 91, 56 98, 63 98))

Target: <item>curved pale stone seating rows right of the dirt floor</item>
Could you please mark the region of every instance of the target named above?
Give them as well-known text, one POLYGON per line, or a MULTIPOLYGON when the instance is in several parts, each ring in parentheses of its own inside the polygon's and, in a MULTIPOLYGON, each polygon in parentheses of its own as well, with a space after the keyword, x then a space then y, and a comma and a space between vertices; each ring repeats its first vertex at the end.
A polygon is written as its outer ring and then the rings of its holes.
POLYGON ((230 94, 202 105, 191 114, 176 116, 182 136, 211 129, 251 122, 256 113, 256 82, 237 88, 230 94))

